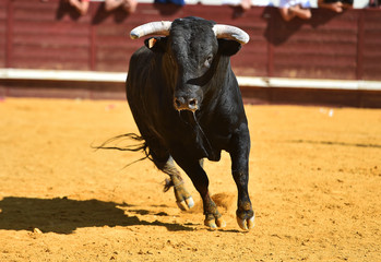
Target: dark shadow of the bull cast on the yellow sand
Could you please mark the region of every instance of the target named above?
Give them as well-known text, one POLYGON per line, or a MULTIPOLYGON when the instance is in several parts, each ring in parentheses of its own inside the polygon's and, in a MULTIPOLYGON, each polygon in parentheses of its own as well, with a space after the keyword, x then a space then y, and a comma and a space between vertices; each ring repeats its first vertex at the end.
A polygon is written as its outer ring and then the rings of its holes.
MULTIPOLYGON (((32 199, 7 196, 0 201, 0 229, 71 234, 80 227, 164 226, 169 231, 193 230, 192 227, 158 221, 146 222, 128 216, 123 207, 131 205, 98 200, 32 199), (119 209, 119 207, 120 209, 119 209)), ((143 210, 139 212, 144 214, 143 210)))

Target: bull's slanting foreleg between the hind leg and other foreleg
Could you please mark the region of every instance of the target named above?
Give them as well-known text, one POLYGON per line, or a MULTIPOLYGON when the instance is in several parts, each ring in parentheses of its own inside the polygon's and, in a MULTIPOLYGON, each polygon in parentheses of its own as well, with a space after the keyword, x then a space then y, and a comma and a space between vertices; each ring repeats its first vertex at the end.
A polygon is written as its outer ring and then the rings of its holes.
POLYGON ((209 193, 209 179, 206 172, 201 167, 202 162, 190 163, 188 160, 180 160, 178 162, 178 164, 190 177, 194 184, 194 188, 198 190, 202 198, 205 215, 205 226, 212 229, 215 229, 217 227, 225 227, 226 223, 218 212, 217 205, 211 199, 211 195, 209 193))

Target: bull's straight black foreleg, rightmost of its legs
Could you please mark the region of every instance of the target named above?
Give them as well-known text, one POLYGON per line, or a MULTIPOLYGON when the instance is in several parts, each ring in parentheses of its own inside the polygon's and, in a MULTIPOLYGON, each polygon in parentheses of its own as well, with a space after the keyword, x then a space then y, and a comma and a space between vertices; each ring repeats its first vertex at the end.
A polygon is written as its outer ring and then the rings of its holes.
POLYGON ((243 230, 254 227, 254 212, 248 192, 250 136, 246 126, 231 141, 231 174, 238 189, 237 223, 243 230))

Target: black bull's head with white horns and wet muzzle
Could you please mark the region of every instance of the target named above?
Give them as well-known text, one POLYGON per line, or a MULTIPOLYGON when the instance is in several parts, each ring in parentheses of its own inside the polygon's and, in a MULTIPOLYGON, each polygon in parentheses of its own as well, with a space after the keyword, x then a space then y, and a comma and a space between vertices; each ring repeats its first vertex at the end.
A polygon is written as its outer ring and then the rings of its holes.
POLYGON ((130 33, 132 39, 148 35, 165 36, 148 38, 145 45, 163 53, 164 67, 172 80, 175 109, 193 112, 200 108, 213 75, 226 72, 229 66, 226 62, 225 69, 219 68, 221 56, 233 56, 249 41, 249 35, 238 27, 198 17, 152 22, 130 33))

